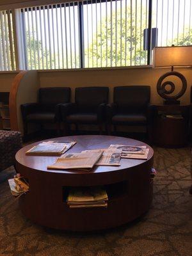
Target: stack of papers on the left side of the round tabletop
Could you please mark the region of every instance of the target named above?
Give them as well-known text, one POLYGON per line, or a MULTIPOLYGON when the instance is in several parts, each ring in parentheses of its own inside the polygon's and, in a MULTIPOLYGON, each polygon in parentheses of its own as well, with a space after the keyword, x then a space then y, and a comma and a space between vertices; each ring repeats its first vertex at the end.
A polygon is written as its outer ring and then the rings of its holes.
POLYGON ((28 156, 60 156, 71 148, 76 141, 44 141, 26 152, 28 156))

